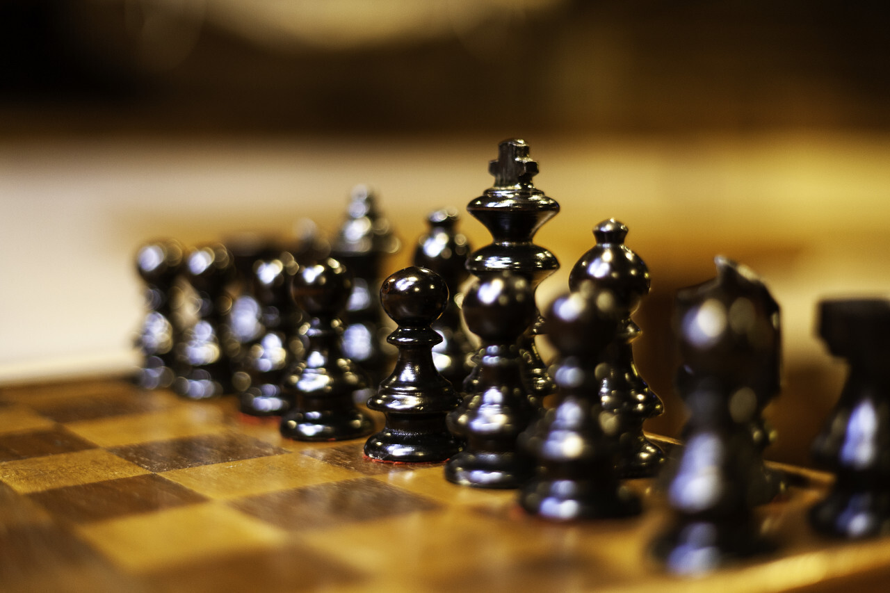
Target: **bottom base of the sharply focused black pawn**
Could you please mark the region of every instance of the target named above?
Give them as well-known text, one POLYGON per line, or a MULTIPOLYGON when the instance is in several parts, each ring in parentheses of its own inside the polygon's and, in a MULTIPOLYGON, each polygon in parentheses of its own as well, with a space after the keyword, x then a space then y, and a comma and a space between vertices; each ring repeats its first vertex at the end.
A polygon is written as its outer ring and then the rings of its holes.
POLYGON ((461 442, 449 433, 442 417, 437 432, 409 432, 385 426, 365 443, 365 455, 377 461, 435 463, 460 451, 461 442))

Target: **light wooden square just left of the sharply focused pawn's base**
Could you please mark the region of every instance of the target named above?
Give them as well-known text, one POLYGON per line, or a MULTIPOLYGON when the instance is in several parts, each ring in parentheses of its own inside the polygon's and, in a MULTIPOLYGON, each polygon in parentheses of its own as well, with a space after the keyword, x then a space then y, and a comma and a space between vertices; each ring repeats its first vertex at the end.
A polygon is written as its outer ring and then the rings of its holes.
POLYGON ((224 500, 348 480, 358 474, 304 455, 287 454, 175 469, 164 477, 210 498, 224 500))

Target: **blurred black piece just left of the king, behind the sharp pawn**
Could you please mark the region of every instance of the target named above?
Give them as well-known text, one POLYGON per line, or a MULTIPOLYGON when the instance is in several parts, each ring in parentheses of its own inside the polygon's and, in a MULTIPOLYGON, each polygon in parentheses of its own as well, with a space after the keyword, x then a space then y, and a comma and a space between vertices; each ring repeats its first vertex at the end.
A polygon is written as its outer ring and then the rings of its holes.
POLYGON ((463 299, 460 287, 469 275, 466 256, 470 253, 470 243, 462 233, 455 231, 458 219, 454 208, 442 208, 429 215, 429 232, 417 240, 414 253, 415 265, 436 272, 448 285, 448 306, 445 313, 433 321, 433 329, 442 337, 442 341, 433 346, 433 362, 442 377, 456 389, 460 389, 470 372, 470 353, 473 352, 473 345, 461 324, 459 305, 463 299))

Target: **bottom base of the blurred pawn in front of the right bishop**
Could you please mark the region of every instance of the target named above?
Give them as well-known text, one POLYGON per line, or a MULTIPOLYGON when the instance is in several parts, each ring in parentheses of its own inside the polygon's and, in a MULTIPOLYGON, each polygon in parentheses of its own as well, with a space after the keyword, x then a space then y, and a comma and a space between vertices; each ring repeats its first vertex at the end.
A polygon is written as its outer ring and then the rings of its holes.
POLYGON ((519 496, 531 515, 554 521, 606 519, 639 515, 640 499, 627 488, 603 488, 588 481, 534 480, 519 496))

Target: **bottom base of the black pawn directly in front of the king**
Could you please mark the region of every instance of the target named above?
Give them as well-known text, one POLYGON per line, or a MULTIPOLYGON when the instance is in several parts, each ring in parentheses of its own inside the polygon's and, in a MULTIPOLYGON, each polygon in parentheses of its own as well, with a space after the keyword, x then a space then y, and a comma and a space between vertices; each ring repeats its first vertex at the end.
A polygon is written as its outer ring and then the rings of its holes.
POLYGON ((519 488, 535 473, 530 459, 513 452, 461 451, 445 464, 445 479, 474 488, 519 488))

